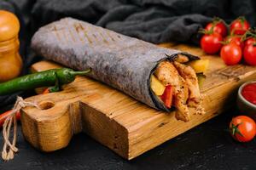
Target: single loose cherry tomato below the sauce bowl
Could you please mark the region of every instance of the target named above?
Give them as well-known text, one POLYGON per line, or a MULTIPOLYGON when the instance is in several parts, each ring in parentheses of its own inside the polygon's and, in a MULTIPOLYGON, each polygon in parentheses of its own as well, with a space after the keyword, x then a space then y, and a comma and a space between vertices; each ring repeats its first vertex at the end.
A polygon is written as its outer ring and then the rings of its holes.
POLYGON ((255 122, 248 116, 236 116, 230 122, 230 133, 237 141, 248 142, 255 136, 255 122))

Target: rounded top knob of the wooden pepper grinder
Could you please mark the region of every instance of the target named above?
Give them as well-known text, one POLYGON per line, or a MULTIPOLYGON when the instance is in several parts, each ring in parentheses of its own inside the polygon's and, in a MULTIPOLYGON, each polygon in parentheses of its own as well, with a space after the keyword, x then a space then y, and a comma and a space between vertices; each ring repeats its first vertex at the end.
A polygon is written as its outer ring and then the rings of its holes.
POLYGON ((7 41, 18 35, 20 22, 15 14, 0 10, 0 42, 7 41))

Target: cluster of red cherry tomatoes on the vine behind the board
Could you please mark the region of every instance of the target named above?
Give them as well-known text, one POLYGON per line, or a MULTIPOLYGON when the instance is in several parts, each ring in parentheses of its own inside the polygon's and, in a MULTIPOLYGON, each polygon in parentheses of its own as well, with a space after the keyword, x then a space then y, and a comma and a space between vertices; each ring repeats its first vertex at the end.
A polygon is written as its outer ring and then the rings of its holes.
POLYGON ((242 56, 247 65, 256 65, 256 34, 244 17, 233 20, 230 26, 216 18, 201 32, 201 48, 207 54, 220 52, 226 65, 240 63, 242 56))

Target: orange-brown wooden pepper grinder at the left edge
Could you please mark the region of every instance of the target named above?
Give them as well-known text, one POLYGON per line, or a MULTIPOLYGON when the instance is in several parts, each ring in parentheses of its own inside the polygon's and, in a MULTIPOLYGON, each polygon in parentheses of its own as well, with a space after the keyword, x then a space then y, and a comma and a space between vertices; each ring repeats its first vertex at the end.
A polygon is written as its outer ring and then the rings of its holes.
POLYGON ((20 22, 15 14, 0 10, 0 82, 20 75, 20 22))

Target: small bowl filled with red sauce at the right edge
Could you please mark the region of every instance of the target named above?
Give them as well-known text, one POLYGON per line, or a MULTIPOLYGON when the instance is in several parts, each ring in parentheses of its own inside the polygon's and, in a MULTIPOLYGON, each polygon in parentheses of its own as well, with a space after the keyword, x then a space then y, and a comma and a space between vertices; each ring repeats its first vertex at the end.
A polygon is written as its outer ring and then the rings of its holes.
POLYGON ((237 105, 242 113, 256 120, 256 81, 241 85, 238 90, 237 105))

